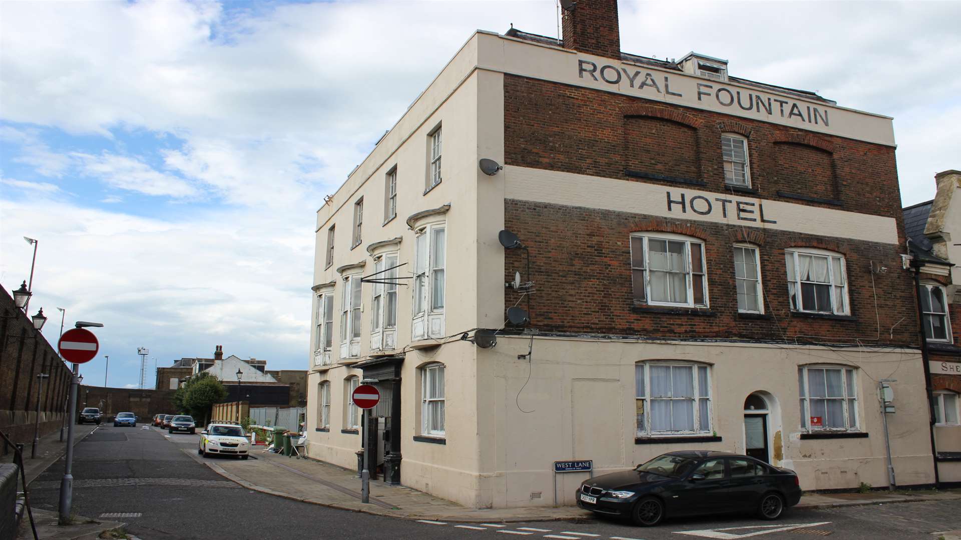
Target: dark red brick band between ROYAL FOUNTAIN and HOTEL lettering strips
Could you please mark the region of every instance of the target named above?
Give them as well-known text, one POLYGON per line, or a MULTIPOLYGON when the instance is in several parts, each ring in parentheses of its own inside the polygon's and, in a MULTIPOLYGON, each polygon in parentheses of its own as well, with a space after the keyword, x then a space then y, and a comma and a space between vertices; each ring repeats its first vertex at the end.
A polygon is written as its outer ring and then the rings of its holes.
POLYGON ((696 166, 693 176, 705 184, 702 189, 724 192, 721 134, 733 132, 748 137, 757 197, 894 217, 899 244, 904 243, 894 148, 515 75, 505 75, 504 84, 507 164, 638 182, 625 174, 631 152, 653 148, 661 163, 689 161, 678 171, 696 166), (690 157, 687 138, 681 141, 663 128, 648 133, 633 128, 633 119, 642 116, 691 126, 698 155, 690 157), (792 161, 793 168, 785 170, 778 159, 792 161), (786 198, 778 191, 837 199, 841 205, 786 198))

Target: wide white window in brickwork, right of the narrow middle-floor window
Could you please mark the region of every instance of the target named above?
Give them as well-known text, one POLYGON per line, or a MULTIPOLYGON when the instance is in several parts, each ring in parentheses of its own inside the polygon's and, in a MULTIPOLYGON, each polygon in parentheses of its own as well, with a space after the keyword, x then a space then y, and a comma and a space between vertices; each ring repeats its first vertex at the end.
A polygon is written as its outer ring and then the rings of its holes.
POLYGON ((844 257, 823 250, 784 252, 791 309, 847 315, 848 278, 844 257))

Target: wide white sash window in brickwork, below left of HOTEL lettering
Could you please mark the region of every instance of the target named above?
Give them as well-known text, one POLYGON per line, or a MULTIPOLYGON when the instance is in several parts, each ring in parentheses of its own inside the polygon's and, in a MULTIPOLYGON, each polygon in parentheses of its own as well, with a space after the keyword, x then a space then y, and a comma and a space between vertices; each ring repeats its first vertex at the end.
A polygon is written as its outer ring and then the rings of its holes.
POLYGON ((630 236, 635 302, 652 306, 707 306, 701 240, 671 233, 630 236))

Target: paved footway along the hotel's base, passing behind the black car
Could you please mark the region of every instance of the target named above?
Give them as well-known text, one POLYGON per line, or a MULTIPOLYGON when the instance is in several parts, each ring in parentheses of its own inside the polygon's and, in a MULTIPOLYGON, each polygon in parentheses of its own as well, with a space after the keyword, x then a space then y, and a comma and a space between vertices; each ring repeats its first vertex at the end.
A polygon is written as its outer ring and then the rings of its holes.
MULTIPOLYGON (((287 457, 256 450, 257 460, 237 460, 232 456, 200 457, 184 449, 218 475, 247 489, 332 508, 413 520, 456 523, 519 523, 548 521, 587 521, 595 516, 577 506, 526 506, 478 509, 433 497, 404 486, 382 481, 370 483, 371 503, 360 503, 357 473, 314 459, 287 457), (307 481, 305 481, 307 480, 307 481)), ((865 504, 958 501, 961 491, 919 490, 871 493, 807 493, 797 509, 820 509, 865 504)))

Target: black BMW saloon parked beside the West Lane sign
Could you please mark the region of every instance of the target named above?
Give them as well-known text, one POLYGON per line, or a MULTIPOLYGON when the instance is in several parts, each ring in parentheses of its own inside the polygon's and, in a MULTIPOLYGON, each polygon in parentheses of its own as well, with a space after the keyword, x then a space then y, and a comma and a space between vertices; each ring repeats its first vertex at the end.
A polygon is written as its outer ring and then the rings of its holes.
POLYGON ((774 520, 801 500, 801 482, 789 469, 741 454, 672 452, 634 469, 587 479, 578 505, 652 527, 665 517, 751 511, 774 520))

